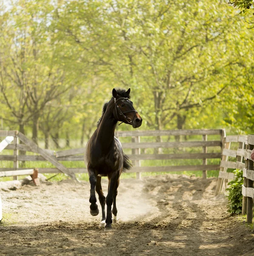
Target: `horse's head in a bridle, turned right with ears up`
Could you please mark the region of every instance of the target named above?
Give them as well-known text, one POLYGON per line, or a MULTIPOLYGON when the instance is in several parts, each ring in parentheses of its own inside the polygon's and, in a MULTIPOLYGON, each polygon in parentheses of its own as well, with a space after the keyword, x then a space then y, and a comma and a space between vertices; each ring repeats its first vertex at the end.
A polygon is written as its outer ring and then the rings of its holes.
POLYGON ((130 92, 130 88, 123 95, 118 94, 115 89, 112 90, 115 105, 114 117, 120 122, 132 125, 133 128, 138 128, 142 124, 142 118, 133 107, 130 92))

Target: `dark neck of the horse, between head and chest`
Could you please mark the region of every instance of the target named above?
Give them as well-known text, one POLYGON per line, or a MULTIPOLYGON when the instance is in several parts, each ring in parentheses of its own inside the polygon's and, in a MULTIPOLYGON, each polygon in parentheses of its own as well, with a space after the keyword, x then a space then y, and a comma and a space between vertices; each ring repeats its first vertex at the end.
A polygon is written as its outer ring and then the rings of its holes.
POLYGON ((112 108, 107 108, 97 128, 97 140, 100 141, 103 148, 108 148, 114 143, 114 131, 117 125, 117 120, 112 114, 112 108))

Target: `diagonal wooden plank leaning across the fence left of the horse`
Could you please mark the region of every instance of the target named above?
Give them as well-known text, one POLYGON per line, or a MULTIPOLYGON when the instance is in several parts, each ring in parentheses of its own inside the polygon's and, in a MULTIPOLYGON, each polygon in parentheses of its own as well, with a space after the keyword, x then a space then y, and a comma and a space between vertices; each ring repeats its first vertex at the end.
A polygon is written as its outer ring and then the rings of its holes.
POLYGON ((39 148, 33 141, 29 140, 24 134, 19 133, 17 136, 20 138, 21 141, 23 141, 23 143, 29 145, 31 149, 36 150, 42 157, 44 157, 46 160, 48 160, 50 163, 56 166, 61 172, 65 173, 74 180, 77 180, 74 172, 68 170, 68 168, 59 163, 56 157, 50 155, 47 151, 43 150, 42 148, 39 148))

